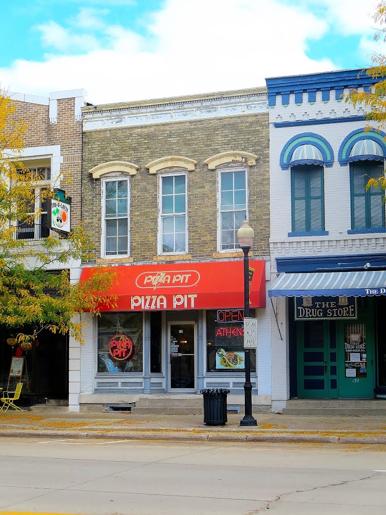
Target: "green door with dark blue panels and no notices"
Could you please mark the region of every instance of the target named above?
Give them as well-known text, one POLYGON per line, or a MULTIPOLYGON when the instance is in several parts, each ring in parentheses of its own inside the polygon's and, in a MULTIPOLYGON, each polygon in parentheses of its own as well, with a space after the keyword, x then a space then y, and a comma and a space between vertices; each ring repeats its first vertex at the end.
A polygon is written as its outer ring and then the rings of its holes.
POLYGON ((296 322, 297 396, 336 399, 337 351, 335 324, 314 320, 296 322))

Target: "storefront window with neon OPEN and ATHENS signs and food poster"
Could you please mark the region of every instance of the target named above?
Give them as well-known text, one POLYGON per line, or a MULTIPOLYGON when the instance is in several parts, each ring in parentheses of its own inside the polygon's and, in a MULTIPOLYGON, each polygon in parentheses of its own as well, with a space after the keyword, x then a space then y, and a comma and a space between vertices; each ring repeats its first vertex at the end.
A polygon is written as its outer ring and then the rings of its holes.
MULTIPOLYGON (((251 310, 251 317, 255 310, 251 310)), ((243 310, 206 312, 208 372, 245 371, 243 310)), ((251 371, 256 370, 256 352, 251 349, 251 371)))

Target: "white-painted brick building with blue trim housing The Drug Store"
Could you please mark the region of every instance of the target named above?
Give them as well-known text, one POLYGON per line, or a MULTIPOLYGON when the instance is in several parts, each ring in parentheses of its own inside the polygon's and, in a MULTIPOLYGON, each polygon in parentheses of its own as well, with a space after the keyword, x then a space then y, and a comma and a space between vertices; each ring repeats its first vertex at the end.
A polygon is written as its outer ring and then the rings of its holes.
POLYGON ((275 411, 386 393, 383 192, 365 192, 386 146, 344 100, 371 83, 360 70, 267 79, 275 411))

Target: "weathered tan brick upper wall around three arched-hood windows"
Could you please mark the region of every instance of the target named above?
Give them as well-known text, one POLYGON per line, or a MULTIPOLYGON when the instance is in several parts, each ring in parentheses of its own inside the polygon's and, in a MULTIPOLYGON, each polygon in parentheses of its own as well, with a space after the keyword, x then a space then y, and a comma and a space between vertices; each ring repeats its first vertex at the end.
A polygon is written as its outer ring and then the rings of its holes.
POLYGON ((159 174, 150 175, 145 164, 177 155, 198 161, 196 170, 188 172, 188 253, 192 259, 213 258, 217 251, 217 171, 209 170, 203 161, 226 150, 253 152, 259 157, 256 166, 249 167, 249 219, 255 230, 254 255, 269 255, 269 128, 268 114, 259 113, 85 132, 82 219, 84 228, 93 234, 97 256, 101 180, 94 180, 89 170, 116 160, 140 166, 137 175, 130 177, 131 256, 134 261, 151 261, 157 254, 159 174))

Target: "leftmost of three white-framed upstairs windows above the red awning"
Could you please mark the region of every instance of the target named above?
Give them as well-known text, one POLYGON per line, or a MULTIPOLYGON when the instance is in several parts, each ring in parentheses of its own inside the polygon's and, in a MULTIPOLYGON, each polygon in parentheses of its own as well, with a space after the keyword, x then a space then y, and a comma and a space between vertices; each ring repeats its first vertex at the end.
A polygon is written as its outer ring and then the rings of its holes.
POLYGON ((104 255, 129 254, 129 180, 103 182, 104 255))

